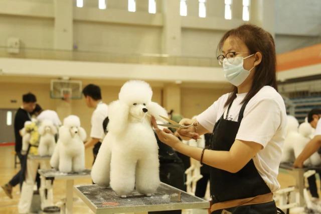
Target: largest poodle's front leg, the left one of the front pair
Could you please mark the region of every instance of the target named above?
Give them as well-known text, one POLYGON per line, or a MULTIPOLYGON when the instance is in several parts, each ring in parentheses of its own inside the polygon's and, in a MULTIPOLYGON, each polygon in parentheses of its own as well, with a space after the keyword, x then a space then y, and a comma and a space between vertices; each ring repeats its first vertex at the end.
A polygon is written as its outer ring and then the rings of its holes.
POLYGON ((110 186, 118 195, 128 195, 134 190, 136 160, 113 152, 110 163, 110 186))

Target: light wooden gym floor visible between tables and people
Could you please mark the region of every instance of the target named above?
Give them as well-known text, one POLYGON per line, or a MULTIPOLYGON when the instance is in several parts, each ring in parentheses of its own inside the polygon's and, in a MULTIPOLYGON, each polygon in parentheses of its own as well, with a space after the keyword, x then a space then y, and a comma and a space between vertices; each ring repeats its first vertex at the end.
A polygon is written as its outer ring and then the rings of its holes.
MULTIPOLYGON (((13 146, 0 146, 0 157, 2 164, 0 165, 0 184, 3 185, 7 183, 13 175, 15 175, 19 168, 14 168, 14 147, 13 146)), ((92 150, 86 150, 86 168, 91 168, 92 165, 92 150)), ((295 184, 294 178, 285 173, 280 173, 278 180, 281 184, 281 187, 287 187, 295 184)), ((78 179, 75 180, 75 184, 91 184, 90 179, 78 179)), ((319 186, 319 182, 318 182, 319 186)), ((65 196, 65 181, 56 180, 54 183, 54 200, 55 203, 61 201, 65 196)), ((17 214, 18 208, 17 204, 19 202, 20 191, 19 185, 14 188, 13 199, 10 199, 6 196, 3 190, 0 190, 0 213, 2 214, 17 214)), ((74 194, 74 197, 76 195, 74 194)), ((83 203, 80 198, 76 197, 77 200, 74 201, 73 213, 93 213, 86 205, 83 203)), ((193 213, 207 213, 205 210, 195 210, 193 213)))

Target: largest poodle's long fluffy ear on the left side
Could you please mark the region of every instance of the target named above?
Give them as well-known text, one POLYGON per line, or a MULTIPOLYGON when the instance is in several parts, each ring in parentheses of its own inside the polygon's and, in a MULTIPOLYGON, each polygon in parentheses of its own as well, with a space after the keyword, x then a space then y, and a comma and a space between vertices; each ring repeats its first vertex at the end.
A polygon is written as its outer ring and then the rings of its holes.
POLYGON ((129 106, 120 100, 109 104, 107 126, 108 132, 121 133, 126 129, 128 123, 129 106))

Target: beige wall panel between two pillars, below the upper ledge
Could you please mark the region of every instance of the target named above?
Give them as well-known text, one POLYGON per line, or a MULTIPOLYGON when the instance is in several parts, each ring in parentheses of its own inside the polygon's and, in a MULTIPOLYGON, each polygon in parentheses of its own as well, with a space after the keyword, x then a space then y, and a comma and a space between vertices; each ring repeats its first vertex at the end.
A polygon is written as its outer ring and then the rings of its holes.
POLYGON ((74 22, 74 44, 80 51, 160 53, 161 42, 160 27, 74 22))

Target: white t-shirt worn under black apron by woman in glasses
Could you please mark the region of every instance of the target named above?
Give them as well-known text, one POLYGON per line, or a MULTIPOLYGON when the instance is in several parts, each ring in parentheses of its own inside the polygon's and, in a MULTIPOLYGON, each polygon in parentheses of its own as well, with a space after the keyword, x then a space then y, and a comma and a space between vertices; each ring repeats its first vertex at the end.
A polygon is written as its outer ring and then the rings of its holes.
MULTIPOLYGON (((197 121, 210 132, 227 107, 224 104, 228 93, 221 96, 207 110, 197 117, 197 121)), ((246 93, 237 94, 231 105, 228 120, 237 121, 241 110, 241 101, 246 93)), ((280 185, 276 179, 281 161, 282 147, 285 138, 286 111, 281 95, 270 86, 264 86, 247 103, 237 140, 252 141, 263 146, 253 158, 254 165, 271 191, 280 185)), ((227 133, 228 134, 228 130, 227 133)))

